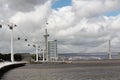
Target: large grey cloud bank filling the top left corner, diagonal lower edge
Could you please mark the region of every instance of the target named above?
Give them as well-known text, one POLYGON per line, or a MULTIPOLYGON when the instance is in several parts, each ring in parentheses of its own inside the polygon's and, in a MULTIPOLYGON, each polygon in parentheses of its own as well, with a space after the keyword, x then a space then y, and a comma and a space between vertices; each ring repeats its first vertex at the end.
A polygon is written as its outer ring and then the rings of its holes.
POLYGON ((37 6, 42 6, 47 1, 52 0, 0 0, 0 20, 8 21, 17 12, 32 12, 37 6))

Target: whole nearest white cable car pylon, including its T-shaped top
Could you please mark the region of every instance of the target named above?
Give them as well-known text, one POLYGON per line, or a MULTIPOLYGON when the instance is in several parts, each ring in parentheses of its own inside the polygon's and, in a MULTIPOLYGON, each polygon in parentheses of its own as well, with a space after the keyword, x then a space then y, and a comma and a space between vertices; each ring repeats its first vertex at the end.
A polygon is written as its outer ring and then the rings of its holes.
POLYGON ((8 25, 9 29, 11 30, 11 61, 14 62, 14 53, 13 53, 13 28, 16 27, 16 24, 8 25))

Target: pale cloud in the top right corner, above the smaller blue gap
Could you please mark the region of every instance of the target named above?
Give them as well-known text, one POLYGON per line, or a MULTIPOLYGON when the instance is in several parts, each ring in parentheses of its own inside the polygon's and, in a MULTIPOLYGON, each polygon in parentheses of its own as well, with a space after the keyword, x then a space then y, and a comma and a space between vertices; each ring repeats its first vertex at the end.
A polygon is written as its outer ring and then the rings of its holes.
POLYGON ((92 17, 120 9, 120 0, 72 0, 77 16, 92 17))

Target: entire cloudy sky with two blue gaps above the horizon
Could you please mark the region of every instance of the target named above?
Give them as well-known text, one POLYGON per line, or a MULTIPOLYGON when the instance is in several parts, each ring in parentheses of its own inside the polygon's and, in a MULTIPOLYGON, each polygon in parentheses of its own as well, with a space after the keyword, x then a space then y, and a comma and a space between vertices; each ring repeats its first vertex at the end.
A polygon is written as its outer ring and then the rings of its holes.
POLYGON ((120 52, 119 3, 120 0, 0 0, 0 52, 10 53, 8 24, 17 25, 13 31, 15 53, 35 53, 34 44, 44 48, 46 28, 48 40, 58 41, 58 53, 108 52, 109 40, 112 52, 120 52))

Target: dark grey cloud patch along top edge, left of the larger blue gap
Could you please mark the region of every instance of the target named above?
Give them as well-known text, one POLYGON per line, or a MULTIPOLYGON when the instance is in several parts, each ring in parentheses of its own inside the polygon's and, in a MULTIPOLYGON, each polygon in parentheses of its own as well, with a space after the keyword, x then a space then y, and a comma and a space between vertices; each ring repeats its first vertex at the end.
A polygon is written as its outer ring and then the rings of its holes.
POLYGON ((42 5, 48 0, 3 0, 8 7, 15 11, 31 11, 35 6, 42 5))

